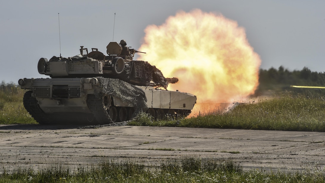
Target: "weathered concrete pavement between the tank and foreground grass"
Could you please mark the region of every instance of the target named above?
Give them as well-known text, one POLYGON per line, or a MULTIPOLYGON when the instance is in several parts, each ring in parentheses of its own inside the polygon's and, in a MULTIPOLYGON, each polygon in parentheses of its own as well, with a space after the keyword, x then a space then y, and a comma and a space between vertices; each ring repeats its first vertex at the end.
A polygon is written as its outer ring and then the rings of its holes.
POLYGON ((230 159, 245 170, 301 170, 310 162, 324 166, 324 142, 325 133, 318 132, 0 125, 0 165, 8 171, 53 165, 73 169, 111 160, 158 166, 168 160, 194 157, 230 159))

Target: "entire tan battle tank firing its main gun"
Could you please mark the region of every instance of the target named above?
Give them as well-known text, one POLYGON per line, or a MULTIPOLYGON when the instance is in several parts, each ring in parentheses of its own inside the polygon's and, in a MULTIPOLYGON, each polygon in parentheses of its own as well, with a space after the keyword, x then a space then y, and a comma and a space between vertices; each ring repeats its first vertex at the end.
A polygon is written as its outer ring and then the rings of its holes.
POLYGON ((122 47, 110 42, 107 54, 81 46, 74 57, 41 58, 37 69, 51 78, 23 78, 26 110, 40 124, 108 124, 126 121, 145 111, 155 118, 165 114, 187 116, 196 96, 167 91, 177 78, 165 78, 145 61, 134 61, 138 51, 120 55, 122 47), (84 54, 86 52, 86 54, 84 54), (159 89, 160 88, 160 89, 159 89))

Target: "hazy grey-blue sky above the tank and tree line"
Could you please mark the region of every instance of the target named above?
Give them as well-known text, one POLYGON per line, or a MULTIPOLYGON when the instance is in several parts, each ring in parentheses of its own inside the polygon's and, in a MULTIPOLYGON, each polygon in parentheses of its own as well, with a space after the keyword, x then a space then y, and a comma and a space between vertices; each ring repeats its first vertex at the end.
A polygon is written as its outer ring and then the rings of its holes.
POLYGON ((262 69, 325 72, 324 7, 321 0, 3 1, 0 81, 47 77, 37 71, 40 58, 71 57, 80 46, 106 53, 109 42, 125 39, 139 49, 148 25, 162 25, 178 11, 193 9, 237 21, 262 69))

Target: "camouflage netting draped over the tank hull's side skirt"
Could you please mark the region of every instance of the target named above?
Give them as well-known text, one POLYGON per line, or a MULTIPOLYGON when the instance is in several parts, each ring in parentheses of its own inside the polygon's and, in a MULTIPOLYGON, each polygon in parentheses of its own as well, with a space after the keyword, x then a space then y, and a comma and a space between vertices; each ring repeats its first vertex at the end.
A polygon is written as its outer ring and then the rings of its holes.
POLYGON ((94 88, 94 94, 96 97, 102 97, 106 94, 119 98, 125 103, 133 104, 133 106, 135 106, 134 114, 137 114, 141 110, 148 110, 148 106, 146 104, 147 97, 142 89, 120 79, 104 77, 96 78, 99 82, 99 85, 96 85, 97 87, 94 88))

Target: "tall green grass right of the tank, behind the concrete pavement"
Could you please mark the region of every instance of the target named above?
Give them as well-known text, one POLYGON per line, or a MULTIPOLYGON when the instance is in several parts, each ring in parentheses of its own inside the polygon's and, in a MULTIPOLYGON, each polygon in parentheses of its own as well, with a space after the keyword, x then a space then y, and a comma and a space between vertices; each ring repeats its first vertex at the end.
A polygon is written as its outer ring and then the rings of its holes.
POLYGON ((129 125, 325 132, 325 97, 286 93, 236 106, 226 114, 201 113, 186 119, 154 121, 142 113, 129 125))

